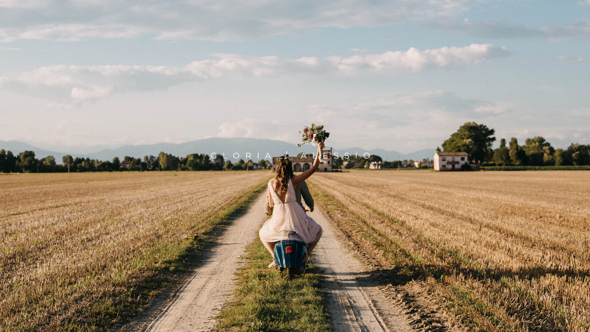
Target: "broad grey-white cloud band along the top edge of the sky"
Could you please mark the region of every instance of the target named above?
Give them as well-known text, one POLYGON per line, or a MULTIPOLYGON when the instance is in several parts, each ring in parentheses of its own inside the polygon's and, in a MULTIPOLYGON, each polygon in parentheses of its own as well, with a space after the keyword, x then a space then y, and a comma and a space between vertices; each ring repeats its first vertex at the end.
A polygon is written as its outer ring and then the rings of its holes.
POLYGON ((316 27, 375 27, 455 15, 468 0, 0 0, 0 38, 244 40, 316 27))

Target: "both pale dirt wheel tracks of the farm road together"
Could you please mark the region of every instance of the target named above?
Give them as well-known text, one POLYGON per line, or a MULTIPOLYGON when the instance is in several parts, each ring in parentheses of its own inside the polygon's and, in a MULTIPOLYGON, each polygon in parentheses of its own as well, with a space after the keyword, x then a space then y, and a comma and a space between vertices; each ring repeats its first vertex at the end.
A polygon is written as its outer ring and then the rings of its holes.
MULTIPOLYGON (((148 310, 124 328, 126 331, 210 331, 222 305, 230 299, 235 271, 244 247, 265 219, 265 197, 225 230, 210 258, 191 278, 167 299, 153 301, 148 310)), ((409 331, 401 313, 379 306, 383 295, 376 288, 363 288, 357 278, 365 276, 362 264, 340 242, 337 229, 320 211, 309 213, 323 227, 323 236, 314 250, 315 262, 326 275, 325 291, 334 331, 409 331)))

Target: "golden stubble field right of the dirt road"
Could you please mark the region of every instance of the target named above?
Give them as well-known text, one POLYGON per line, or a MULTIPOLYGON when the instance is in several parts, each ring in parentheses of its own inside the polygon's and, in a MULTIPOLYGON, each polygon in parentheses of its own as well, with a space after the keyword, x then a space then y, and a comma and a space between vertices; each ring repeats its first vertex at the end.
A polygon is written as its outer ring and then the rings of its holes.
POLYGON ((590 172, 353 171, 308 182, 470 324, 589 330, 590 172))

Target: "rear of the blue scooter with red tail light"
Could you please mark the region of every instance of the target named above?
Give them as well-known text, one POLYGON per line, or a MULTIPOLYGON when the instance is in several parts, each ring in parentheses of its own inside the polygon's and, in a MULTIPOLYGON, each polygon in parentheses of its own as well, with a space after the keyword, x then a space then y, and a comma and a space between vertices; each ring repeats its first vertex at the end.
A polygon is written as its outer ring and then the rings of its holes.
MULTIPOLYGON (((296 236, 295 232, 289 232, 287 237, 296 236)), ((287 278, 303 274, 307 267, 307 246, 305 243, 293 239, 280 240, 274 243, 274 261, 278 271, 287 270, 287 278)))

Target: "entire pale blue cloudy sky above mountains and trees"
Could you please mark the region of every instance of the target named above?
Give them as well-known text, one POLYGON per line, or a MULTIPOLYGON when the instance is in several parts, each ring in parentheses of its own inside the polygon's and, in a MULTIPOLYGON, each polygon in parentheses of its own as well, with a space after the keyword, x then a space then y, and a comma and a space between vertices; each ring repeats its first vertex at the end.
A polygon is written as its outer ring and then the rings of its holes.
MULTIPOLYGON (((590 0, 0 0, 0 140, 590 143, 590 0)), ((497 144, 496 144, 497 145, 497 144)))

